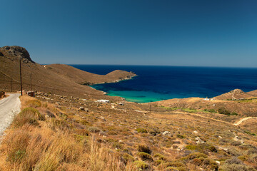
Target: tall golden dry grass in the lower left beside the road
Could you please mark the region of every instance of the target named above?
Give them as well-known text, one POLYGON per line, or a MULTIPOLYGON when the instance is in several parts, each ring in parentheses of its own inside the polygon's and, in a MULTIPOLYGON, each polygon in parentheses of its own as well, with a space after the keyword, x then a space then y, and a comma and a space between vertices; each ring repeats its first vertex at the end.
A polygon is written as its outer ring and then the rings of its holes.
MULTIPOLYGON (((21 97, 22 111, 31 106, 31 100, 35 99, 21 97)), ((124 165, 116 152, 100 145, 94 137, 78 138, 72 130, 54 127, 51 118, 35 118, 32 110, 26 110, 26 115, 21 113, 1 143, 0 170, 133 170, 133 165, 124 165), (28 120, 36 120, 37 124, 28 120)))

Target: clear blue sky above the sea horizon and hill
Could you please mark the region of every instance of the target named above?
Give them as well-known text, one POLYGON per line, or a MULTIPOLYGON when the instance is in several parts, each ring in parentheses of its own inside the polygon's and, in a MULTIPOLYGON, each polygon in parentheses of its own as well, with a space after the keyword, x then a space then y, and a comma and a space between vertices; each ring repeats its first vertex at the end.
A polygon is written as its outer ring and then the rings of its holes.
POLYGON ((1 1, 37 63, 257 67, 256 0, 1 1))

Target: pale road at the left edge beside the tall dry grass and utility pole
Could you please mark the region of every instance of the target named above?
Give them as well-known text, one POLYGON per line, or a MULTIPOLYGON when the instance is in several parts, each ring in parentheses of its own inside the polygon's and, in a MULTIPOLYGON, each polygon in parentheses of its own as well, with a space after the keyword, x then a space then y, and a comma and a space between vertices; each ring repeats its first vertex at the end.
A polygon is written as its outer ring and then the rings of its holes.
POLYGON ((9 94, 7 98, 0 100, 0 136, 9 127, 14 115, 21 111, 20 94, 9 94))

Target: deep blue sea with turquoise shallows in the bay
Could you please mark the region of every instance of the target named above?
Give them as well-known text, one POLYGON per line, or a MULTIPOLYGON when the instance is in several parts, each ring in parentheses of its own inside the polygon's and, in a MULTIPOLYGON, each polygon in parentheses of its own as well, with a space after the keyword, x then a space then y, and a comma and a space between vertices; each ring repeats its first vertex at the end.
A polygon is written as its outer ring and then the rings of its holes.
POLYGON ((147 103, 170 98, 211 98, 235 88, 257 89, 257 68, 214 68, 186 66, 103 66, 71 65, 90 73, 133 71, 138 76, 119 83, 92 86, 112 96, 147 103))

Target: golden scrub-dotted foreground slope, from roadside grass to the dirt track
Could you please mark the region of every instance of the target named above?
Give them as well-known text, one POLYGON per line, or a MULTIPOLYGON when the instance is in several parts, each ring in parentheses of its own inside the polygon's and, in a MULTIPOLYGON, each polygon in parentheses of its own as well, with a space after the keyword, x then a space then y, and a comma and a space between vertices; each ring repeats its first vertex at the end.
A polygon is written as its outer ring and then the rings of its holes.
MULTIPOLYGON (((78 98, 65 98, 64 103, 56 97, 55 103, 21 97, 21 113, 0 145, 0 170, 257 168, 254 133, 199 118, 198 110, 152 106, 150 114, 146 105, 136 103, 78 98)), ((203 115, 221 114, 208 109, 203 115)))

